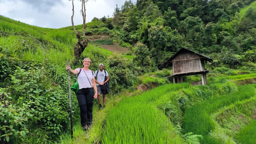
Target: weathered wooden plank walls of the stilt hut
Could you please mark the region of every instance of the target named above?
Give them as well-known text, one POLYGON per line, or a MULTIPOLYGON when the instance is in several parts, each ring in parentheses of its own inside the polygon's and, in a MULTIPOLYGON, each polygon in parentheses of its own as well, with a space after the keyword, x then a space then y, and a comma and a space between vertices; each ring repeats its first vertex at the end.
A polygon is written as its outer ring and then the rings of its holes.
MULTIPOLYGON (((184 51, 179 53, 174 59, 172 59, 173 74, 187 73, 187 72, 199 72, 200 71, 200 55, 197 55, 191 51, 184 51), (184 59, 184 60, 183 60, 184 59), (177 61, 183 60, 183 61, 177 61)), ((201 61, 202 70, 205 69, 204 61, 201 61)))

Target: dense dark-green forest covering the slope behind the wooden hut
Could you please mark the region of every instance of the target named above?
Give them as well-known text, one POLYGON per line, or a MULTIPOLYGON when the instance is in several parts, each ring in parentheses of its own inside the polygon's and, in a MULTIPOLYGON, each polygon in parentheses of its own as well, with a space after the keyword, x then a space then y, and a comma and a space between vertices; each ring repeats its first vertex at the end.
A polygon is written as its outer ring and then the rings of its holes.
MULTIPOLYGON (((210 64, 255 70, 256 8, 254 0, 137 0, 114 9, 101 20, 120 45, 139 44, 141 66, 157 66, 180 47, 214 59, 210 64), (242 10, 242 11, 241 11, 242 10), (152 64, 150 64, 151 62, 152 64)), ((145 69, 146 70, 146 69, 145 69)))

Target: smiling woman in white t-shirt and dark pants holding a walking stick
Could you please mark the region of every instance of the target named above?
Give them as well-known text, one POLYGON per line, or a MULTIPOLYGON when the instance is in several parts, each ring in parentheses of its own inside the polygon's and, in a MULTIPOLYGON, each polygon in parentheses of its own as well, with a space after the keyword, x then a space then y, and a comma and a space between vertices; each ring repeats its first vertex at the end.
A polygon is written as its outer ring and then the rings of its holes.
POLYGON ((95 83, 94 73, 89 70, 91 60, 85 58, 83 60, 83 68, 77 68, 72 70, 69 65, 66 66, 66 70, 69 70, 71 74, 80 74, 77 77, 79 90, 76 94, 78 104, 80 107, 81 126, 86 131, 92 125, 93 121, 93 97, 97 98, 97 87, 95 83), (81 70, 81 71, 80 71, 81 70), (95 91, 95 94, 93 92, 95 91))

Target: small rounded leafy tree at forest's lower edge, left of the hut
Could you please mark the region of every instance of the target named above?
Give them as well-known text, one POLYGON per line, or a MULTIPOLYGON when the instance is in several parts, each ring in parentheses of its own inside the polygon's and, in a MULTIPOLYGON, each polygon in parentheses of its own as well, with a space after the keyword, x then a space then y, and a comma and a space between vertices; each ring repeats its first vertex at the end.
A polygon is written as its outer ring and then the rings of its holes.
POLYGON ((136 55, 134 58, 135 63, 137 63, 139 66, 150 66, 150 52, 145 44, 137 43, 134 53, 136 55))

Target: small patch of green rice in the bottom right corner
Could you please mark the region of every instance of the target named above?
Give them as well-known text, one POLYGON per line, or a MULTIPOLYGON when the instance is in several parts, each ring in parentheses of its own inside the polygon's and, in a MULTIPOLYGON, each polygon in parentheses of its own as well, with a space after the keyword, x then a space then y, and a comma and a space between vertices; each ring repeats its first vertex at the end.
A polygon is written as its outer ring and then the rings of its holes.
POLYGON ((256 142, 256 120, 246 125, 235 136, 239 143, 255 144, 256 142))

